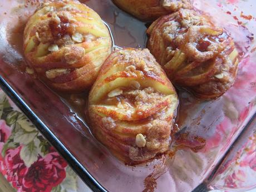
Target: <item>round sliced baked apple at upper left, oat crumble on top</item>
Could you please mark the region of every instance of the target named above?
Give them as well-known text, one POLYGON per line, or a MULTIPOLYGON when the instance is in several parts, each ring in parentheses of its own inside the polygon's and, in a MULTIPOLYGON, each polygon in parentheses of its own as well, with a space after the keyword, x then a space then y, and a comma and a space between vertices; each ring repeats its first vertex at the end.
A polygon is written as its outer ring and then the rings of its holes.
POLYGON ((60 91, 82 91, 111 53, 100 16, 78 1, 42 4, 24 29, 24 56, 38 76, 60 91))

